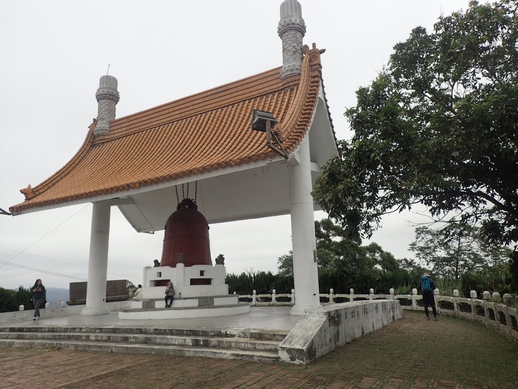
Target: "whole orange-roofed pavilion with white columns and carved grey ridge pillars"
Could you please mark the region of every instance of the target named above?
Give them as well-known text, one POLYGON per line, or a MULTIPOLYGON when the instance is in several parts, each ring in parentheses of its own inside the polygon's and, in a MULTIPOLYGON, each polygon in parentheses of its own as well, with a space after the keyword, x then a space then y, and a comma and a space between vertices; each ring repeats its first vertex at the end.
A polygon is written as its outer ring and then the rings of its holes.
POLYGON ((97 118, 76 155, 44 182, 20 190, 25 201, 9 208, 13 215, 93 203, 82 315, 108 313, 111 206, 137 232, 160 231, 187 184, 209 224, 290 214, 291 313, 320 305, 311 190, 337 152, 322 82, 324 50, 303 45, 296 0, 285 0, 280 10, 282 66, 122 118, 116 118, 117 79, 103 76, 97 118))

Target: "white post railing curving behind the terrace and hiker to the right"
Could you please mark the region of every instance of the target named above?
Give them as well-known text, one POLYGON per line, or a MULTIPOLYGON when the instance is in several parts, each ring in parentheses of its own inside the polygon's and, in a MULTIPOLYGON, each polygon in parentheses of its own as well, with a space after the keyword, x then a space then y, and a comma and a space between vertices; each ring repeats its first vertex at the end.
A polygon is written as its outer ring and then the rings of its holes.
MULTIPOLYGON (((234 294, 236 294, 234 292, 234 294)), ((470 298, 460 297, 457 289, 453 290, 453 297, 441 296, 439 289, 435 289, 435 300, 439 315, 450 315, 461 317, 471 321, 479 322, 488 328, 493 329, 508 339, 518 341, 518 296, 512 297, 509 294, 500 297, 498 292, 493 294, 484 291, 482 300, 477 299, 477 292, 471 290, 470 298)), ((421 300, 422 295, 418 295, 417 289, 412 289, 411 295, 395 295, 394 289, 390 289, 389 294, 374 294, 374 289, 370 289, 368 294, 355 294, 354 289, 350 289, 348 294, 335 294, 333 289, 329 293, 320 294, 320 298, 327 299, 323 305, 335 304, 337 299, 355 300, 377 300, 390 299, 399 300, 401 307, 407 310, 424 310, 421 300)), ((295 303, 295 290, 290 294, 277 294, 275 289, 272 294, 256 294, 255 290, 251 295, 239 295, 239 300, 246 300, 254 307, 271 305, 293 305, 295 303)))

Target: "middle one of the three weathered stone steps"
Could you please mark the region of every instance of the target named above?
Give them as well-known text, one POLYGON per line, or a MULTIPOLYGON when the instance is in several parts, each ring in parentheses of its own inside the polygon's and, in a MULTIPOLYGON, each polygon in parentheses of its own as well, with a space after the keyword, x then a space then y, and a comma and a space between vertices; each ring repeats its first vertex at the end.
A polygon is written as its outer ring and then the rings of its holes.
POLYGON ((278 352, 280 341, 250 338, 203 336, 116 334, 102 332, 0 332, 6 340, 48 340, 54 342, 106 342, 124 344, 156 344, 278 352))

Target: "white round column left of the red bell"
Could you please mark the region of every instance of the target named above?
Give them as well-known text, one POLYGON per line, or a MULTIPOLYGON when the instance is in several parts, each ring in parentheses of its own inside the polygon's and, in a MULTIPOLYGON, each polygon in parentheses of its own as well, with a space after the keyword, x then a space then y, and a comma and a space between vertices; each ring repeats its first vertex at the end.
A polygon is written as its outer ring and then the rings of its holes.
POLYGON ((110 234, 110 201, 93 203, 90 259, 88 262, 87 306, 81 315, 105 315, 108 241, 110 234))

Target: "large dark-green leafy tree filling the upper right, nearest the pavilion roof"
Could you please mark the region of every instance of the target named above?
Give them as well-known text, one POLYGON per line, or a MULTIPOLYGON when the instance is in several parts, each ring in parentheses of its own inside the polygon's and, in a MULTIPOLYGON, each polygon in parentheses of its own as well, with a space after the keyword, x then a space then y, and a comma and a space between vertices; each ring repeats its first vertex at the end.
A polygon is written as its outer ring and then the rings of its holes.
POLYGON ((313 198, 353 237, 422 203, 437 220, 518 241, 516 0, 470 2, 394 47, 346 116, 354 135, 323 166, 313 198))

